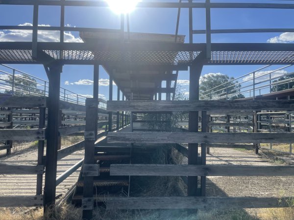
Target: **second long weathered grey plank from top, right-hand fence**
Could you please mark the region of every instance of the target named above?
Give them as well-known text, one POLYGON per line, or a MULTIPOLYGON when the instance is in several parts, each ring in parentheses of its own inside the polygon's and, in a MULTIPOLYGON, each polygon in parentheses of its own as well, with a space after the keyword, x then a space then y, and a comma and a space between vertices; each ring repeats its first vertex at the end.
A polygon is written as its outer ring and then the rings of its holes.
POLYGON ((294 133, 109 132, 108 143, 291 143, 294 133))

